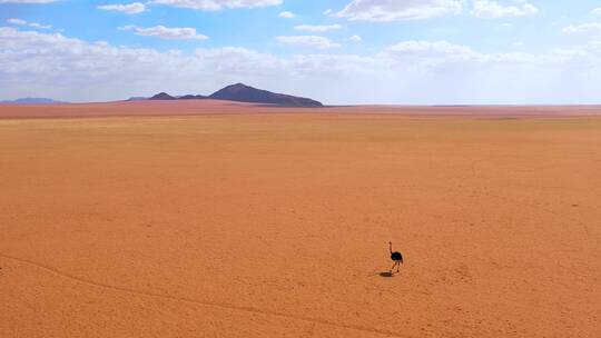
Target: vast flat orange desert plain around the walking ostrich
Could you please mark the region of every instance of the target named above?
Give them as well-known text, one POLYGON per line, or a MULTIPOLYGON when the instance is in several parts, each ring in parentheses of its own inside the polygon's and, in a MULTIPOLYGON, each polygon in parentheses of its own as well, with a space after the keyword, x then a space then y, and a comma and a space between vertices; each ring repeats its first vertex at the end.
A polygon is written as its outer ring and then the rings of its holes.
POLYGON ((598 112, 2 107, 0 337, 601 337, 598 112))

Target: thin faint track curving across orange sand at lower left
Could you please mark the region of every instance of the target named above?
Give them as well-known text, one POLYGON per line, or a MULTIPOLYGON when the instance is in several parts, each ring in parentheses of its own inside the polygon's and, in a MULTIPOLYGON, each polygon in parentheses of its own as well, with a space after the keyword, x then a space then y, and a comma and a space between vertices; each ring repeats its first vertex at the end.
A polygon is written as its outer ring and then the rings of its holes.
POLYGON ((33 260, 19 258, 19 257, 6 255, 6 254, 0 254, 0 257, 2 257, 4 259, 17 261, 17 262, 20 262, 20 264, 33 266, 33 267, 37 267, 39 269, 49 271, 52 275, 56 275, 56 276, 59 276, 59 277, 62 277, 62 278, 66 278, 66 279, 70 279, 70 280, 87 285, 87 286, 97 287, 97 288, 104 288, 104 289, 110 289, 110 290, 114 290, 114 291, 120 291, 120 292, 126 292, 126 294, 130 294, 130 295, 152 297, 152 298, 162 298, 162 299, 168 299, 168 300, 173 300, 173 301, 181 301, 181 302, 188 302, 188 304, 194 304, 194 305, 200 305, 200 306, 205 306, 205 307, 214 307, 214 308, 220 308, 220 309, 227 309, 227 310, 236 310, 236 311, 242 311, 242 312, 247 312, 247 314, 253 314, 253 315, 279 317, 279 318, 285 318, 285 319, 305 321, 305 322, 309 322, 309 324, 319 324, 319 325, 324 325, 324 326, 337 327, 337 328, 343 328, 343 329, 348 329, 348 330, 355 330, 355 331, 362 331, 362 332, 368 332, 368 334, 376 334, 376 335, 382 335, 382 336, 387 336, 387 337, 400 337, 400 338, 406 338, 407 337, 406 335, 401 336, 401 335, 398 335, 396 332, 393 332, 393 331, 383 330, 383 329, 376 329, 376 328, 370 328, 370 327, 364 327, 364 326, 359 326, 359 325, 341 324, 341 322, 335 322, 335 321, 325 320, 325 319, 317 319, 317 318, 296 316, 296 315, 289 315, 289 314, 282 314, 282 312, 269 311, 269 310, 262 310, 262 309, 257 309, 257 308, 253 308, 253 307, 236 306, 236 305, 224 304, 224 302, 196 300, 196 299, 186 298, 186 297, 176 297, 176 296, 162 295, 162 294, 157 294, 157 292, 136 290, 136 289, 127 288, 127 287, 112 286, 112 285, 108 285, 108 284, 104 284, 104 282, 97 282, 97 281, 93 281, 93 280, 90 280, 90 279, 77 277, 75 275, 63 272, 63 271, 61 271, 61 270, 59 270, 59 269, 57 269, 55 267, 47 266, 47 265, 33 261, 33 260))

